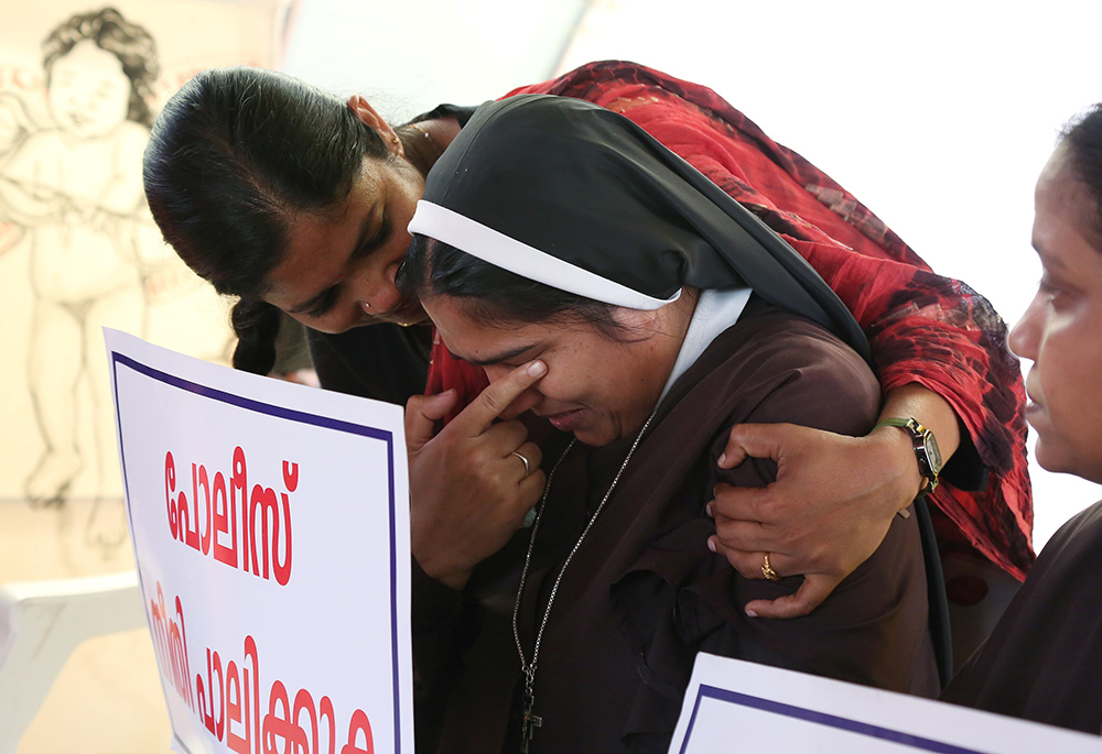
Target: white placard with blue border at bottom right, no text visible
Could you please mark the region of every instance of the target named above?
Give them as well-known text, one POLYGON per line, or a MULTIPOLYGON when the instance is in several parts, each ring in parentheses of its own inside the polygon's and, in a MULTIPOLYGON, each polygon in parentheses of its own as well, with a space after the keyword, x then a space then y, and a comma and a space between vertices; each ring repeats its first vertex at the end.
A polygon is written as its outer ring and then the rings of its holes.
POLYGON ((1080 754, 1102 739, 701 653, 670 754, 1080 754))

